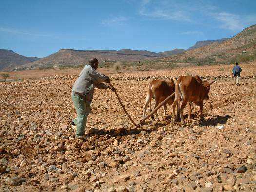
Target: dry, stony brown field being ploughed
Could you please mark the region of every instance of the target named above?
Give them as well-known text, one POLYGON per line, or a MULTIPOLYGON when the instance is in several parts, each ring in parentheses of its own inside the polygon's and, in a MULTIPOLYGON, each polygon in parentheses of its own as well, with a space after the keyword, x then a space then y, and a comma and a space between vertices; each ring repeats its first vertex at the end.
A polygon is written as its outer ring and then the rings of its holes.
MULTIPOLYGON (((241 67, 242 76, 256 72, 255 63, 241 67)), ((229 75, 231 68, 111 76, 217 76, 229 75)), ((34 72, 26 72, 32 78, 34 72)), ((204 123, 193 105, 193 120, 186 125, 147 120, 139 129, 114 93, 96 89, 86 142, 74 139, 69 125, 75 117, 70 99, 75 78, 70 79, 0 83, 0 191, 256 191, 255 79, 242 79, 241 86, 234 86, 233 79, 217 80, 205 101, 204 123)), ((149 82, 112 80, 135 121, 142 116, 149 82)), ((163 109, 158 114, 163 120, 163 109)))

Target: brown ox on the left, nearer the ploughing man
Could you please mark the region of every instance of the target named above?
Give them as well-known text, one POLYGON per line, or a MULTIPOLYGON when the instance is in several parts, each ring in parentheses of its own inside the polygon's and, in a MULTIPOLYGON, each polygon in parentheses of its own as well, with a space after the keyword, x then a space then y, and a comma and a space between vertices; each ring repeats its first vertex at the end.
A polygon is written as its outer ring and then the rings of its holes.
MULTIPOLYGON (((158 106, 158 104, 160 102, 162 102, 164 99, 166 99, 168 96, 170 96, 172 93, 174 93, 175 89, 174 89, 174 81, 173 79, 171 79, 170 81, 165 81, 165 80, 153 80, 150 82, 148 88, 148 94, 146 96, 146 102, 144 105, 144 111, 143 111, 143 117, 142 119, 145 117, 146 115, 146 111, 148 108, 148 104, 149 104, 149 110, 151 111, 151 98, 153 97, 155 100, 155 105, 154 108, 158 106)), ((172 97, 171 99, 168 100, 168 104, 172 105, 174 100, 174 97, 172 97)), ((166 109, 167 109, 167 103, 164 104, 164 115, 166 118, 166 109)), ((156 117, 157 120, 160 121, 159 117, 158 117, 158 113, 156 113, 156 117)), ((152 120, 154 119, 154 116, 151 116, 152 120)))

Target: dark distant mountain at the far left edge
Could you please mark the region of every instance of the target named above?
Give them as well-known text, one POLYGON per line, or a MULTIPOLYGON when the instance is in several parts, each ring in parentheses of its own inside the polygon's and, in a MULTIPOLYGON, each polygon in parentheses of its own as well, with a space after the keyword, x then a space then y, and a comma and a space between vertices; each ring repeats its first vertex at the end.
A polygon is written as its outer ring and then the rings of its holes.
POLYGON ((31 63, 40 58, 19 55, 12 50, 0 49, 0 70, 14 69, 17 66, 31 63))

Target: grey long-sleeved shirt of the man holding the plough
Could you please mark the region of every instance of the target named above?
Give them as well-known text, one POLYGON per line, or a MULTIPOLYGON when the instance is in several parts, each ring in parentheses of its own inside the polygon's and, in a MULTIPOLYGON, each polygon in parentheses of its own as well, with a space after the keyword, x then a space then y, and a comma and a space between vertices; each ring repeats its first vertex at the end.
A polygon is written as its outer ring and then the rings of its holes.
POLYGON ((103 82, 108 78, 108 76, 98 73, 90 65, 85 65, 72 87, 72 92, 82 94, 86 101, 91 102, 93 99, 94 87, 107 89, 108 86, 103 82))

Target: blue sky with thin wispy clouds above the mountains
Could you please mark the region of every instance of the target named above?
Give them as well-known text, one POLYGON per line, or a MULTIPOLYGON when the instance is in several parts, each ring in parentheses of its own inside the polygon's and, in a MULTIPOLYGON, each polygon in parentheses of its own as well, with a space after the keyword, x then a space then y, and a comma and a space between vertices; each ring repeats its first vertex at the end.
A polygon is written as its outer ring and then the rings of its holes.
POLYGON ((0 48, 187 49, 255 24, 255 10, 256 0, 0 0, 0 48))

